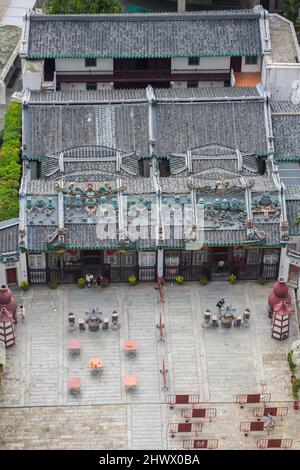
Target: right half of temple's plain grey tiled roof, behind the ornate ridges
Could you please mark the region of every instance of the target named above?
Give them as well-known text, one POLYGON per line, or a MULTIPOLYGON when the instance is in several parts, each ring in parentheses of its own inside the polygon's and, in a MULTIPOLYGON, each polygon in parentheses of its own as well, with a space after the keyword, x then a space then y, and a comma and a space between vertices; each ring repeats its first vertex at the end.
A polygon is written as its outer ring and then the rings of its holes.
POLYGON ((267 153, 262 102, 158 103, 156 114, 159 155, 207 144, 267 153))

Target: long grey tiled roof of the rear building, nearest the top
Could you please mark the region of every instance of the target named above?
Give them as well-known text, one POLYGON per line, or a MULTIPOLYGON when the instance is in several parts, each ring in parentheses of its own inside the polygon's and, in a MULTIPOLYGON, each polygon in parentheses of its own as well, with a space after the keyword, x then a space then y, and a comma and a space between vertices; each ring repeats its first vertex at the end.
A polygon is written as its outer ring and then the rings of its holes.
POLYGON ((26 56, 260 55, 261 12, 256 8, 183 14, 31 15, 26 56))

